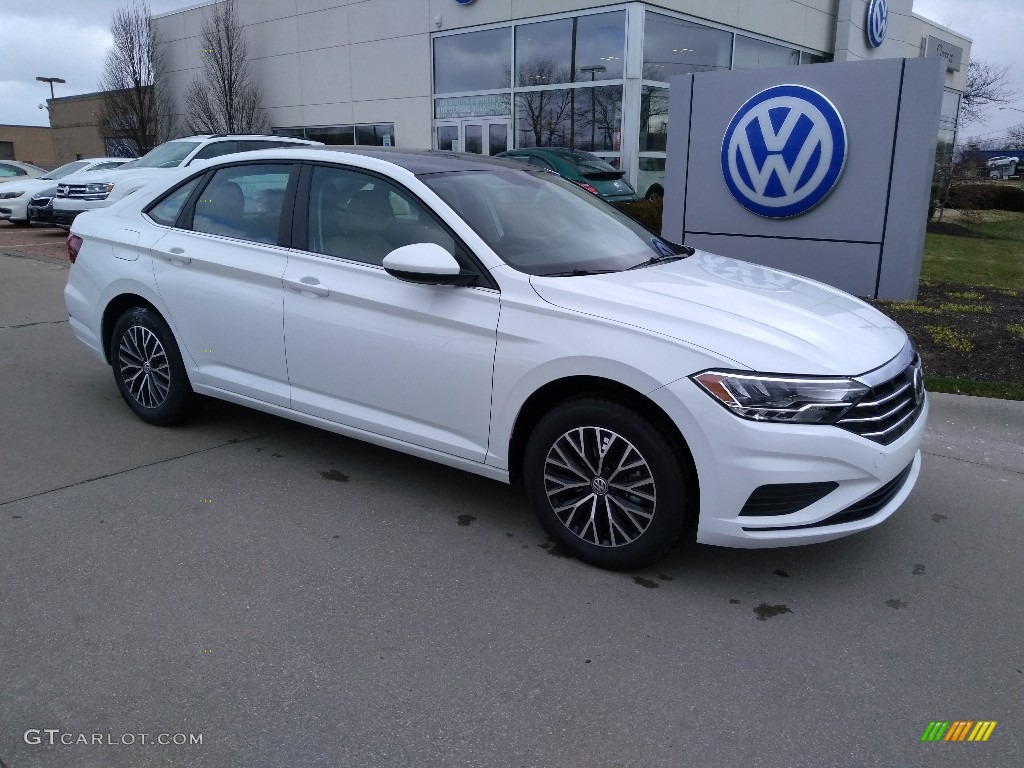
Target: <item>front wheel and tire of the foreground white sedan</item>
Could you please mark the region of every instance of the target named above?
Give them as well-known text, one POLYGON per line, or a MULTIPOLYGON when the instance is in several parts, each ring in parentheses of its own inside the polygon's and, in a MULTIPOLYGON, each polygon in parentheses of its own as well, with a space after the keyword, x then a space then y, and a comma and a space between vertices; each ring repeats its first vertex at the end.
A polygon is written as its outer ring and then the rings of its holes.
POLYGON ((545 530, 581 560, 612 570, 646 567, 672 549, 688 521, 693 477, 688 452, 645 418, 590 398, 541 419, 523 466, 545 530))

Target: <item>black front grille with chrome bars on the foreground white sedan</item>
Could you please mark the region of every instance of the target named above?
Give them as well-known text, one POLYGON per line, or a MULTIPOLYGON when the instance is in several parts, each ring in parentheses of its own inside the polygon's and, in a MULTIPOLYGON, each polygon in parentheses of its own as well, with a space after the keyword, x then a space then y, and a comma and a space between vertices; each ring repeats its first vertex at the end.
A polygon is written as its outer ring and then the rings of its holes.
POLYGON ((888 445, 913 426, 924 408, 924 372, 914 354, 902 372, 867 390, 836 426, 888 445))

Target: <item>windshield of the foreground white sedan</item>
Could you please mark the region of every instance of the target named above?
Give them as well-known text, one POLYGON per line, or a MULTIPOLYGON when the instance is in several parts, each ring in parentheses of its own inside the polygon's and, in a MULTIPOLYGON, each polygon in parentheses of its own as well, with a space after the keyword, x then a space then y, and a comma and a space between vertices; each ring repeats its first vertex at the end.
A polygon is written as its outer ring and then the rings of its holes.
POLYGON ((622 271, 677 247, 575 184, 543 171, 424 174, 505 262, 538 275, 622 271))

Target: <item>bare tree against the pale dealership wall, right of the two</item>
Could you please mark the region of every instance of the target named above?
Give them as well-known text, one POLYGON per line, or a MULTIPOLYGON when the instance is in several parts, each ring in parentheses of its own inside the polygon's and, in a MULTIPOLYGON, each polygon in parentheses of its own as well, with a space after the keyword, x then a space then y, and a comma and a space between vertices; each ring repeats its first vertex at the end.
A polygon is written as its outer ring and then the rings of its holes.
POLYGON ((265 133, 263 94, 249 77, 249 44, 234 0, 214 6, 203 23, 203 74, 185 91, 193 133, 265 133))

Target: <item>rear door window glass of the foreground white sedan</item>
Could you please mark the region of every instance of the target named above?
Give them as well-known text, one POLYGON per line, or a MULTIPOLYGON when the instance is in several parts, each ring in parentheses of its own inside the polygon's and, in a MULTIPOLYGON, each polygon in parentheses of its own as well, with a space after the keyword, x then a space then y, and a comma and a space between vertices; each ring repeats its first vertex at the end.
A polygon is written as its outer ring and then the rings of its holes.
POLYGON ((221 168, 196 203, 193 229, 276 243, 291 169, 274 164, 221 168))

